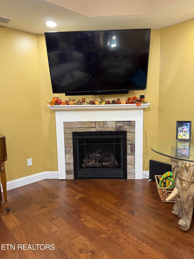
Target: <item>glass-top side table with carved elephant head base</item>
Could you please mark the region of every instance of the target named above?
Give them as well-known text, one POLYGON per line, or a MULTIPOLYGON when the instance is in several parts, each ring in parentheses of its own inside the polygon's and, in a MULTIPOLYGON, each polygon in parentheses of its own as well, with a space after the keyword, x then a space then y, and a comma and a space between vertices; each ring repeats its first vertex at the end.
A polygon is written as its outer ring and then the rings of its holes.
POLYGON ((180 218, 179 227, 186 231, 191 225, 194 206, 194 141, 162 140, 150 147, 171 158, 175 188, 166 201, 175 197, 172 213, 180 218))

